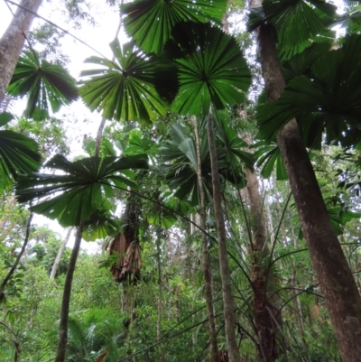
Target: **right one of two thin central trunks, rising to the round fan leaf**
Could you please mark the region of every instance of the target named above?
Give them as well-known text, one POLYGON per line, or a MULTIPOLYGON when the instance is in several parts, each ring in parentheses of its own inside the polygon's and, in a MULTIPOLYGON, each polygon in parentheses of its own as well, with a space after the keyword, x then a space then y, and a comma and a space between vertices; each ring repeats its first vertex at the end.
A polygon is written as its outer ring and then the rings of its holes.
POLYGON ((220 190, 219 174, 218 174, 218 159, 216 142, 213 131, 213 118, 208 115, 208 146, 210 165, 212 169, 212 188, 213 188, 213 203, 216 216, 217 234, 218 234, 218 255, 219 269, 222 280, 222 294, 225 315, 225 332, 228 348, 229 362, 239 362, 238 346, 236 343, 236 323, 235 323, 235 307, 232 296, 232 281, 229 271, 227 258, 227 237, 225 219, 222 210, 222 196, 220 190))

